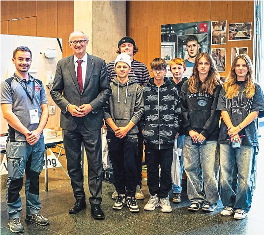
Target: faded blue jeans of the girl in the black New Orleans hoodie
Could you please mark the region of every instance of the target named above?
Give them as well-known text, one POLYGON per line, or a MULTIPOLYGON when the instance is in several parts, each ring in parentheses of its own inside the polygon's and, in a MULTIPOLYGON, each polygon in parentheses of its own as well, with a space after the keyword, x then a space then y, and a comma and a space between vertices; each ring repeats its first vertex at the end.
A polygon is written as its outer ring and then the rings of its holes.
POLYGON ((206 141, 205 145, 197 146, 192 144, 190 136, 185 136, 183 151, 189 200, 216 204, 219 200, 215 181, 217 141, 206 141))

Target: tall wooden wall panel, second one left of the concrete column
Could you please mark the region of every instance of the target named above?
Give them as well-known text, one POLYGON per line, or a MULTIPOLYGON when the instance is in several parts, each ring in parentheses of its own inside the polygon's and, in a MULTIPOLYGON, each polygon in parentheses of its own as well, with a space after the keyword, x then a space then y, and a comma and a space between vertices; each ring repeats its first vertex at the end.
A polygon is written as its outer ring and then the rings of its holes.
POLYGON ((37 1, 37 36, 57 37, 57 1, 37 1))

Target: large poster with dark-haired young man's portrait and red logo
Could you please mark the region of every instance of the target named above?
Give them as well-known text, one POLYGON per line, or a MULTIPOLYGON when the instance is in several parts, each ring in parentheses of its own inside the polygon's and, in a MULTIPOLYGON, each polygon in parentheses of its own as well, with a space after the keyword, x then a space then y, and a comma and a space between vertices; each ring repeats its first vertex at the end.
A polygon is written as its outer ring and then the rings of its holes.
MULTIPOLYGON (((192 75, 195 58, 201 52, 210 52, 211 23, 194 22, 161 26, 161 57, 167 63, 174 58, 182 58, 186 63, 184 76, 192 75), (174 44, 175 43, 175 44, 174 44), (175 45, 175 52, 173 48, 175 45), (171 54, 173 58, 171 58, 171 54)), ((170 70, 166 76, 170 76, 170 70)))

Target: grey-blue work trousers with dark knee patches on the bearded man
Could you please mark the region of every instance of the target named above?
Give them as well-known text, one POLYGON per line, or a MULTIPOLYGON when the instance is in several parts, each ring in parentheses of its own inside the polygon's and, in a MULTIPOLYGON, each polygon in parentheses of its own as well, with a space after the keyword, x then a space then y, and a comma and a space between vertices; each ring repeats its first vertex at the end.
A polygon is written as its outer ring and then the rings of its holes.
POLYGON ((44 138, 39 139, 34 145, 29 145, 26 141, 7 142, 6 203, 10 219, 20 217, 22 210, 19 192, 23 186, 24 169, 26 173, 26 212, 31 215, 40 211, 38 179, 44 165, 44 151, 44 138))

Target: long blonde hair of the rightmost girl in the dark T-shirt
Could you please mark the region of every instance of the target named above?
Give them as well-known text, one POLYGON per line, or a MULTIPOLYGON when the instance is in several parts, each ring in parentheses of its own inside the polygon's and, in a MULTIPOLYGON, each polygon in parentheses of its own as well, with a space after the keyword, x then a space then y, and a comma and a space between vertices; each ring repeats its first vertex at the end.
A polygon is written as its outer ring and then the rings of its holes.
POLYGON ((246 54, 238 55, 237 57, 235 57, 235 60, 233 61, 230 69, 230 73, 228 74, 227 80, 223 84, 223 88, 226 92, 226 97, 228 99, 232 99, 233 97, 238 96, 240 87, 237 83, 235 83, 236 82, 235 66, 238 59, 243 59, 247 65, 248 72, 245 78, 245 90, 243 92, 246 93, 246 98, 250 99, 255 94, 255 72, 250 57, 246 54))

